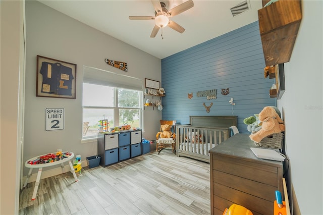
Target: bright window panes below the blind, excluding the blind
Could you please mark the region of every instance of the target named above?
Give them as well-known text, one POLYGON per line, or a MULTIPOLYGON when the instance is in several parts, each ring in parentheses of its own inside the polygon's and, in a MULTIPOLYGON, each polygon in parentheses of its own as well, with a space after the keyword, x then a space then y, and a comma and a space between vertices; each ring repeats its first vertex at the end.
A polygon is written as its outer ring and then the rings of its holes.
POLYGON ((125 124, 141 127, 141 94, 137 90, 83 83, 83 122, 88 122, 83 137, 95 137, 103 119, 108 120, 110 128, 125 124))

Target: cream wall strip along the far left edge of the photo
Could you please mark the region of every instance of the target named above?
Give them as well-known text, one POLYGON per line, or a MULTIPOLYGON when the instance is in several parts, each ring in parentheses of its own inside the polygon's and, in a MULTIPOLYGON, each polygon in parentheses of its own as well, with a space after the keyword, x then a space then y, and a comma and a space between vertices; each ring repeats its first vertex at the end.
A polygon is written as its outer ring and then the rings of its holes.
POLYGON ((1 1, 0 214, 18 214, 24 64, 23 2, 1 1))

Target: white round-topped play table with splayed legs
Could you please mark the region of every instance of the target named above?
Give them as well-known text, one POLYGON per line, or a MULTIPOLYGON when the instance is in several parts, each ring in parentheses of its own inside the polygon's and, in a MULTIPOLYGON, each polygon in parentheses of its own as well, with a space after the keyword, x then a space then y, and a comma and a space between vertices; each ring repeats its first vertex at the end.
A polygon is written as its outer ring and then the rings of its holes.
MULTIPOLYGON (((35 188, 34 188, 34 192, 32 194, 32 199, 31 200, 34 200, 36 198, 36 194, 37 194, 37 190, 38 190, 38 186, 39 186, 39 181, 40 181, 40 176, 41 176, 41 172, 42 172, 42 168, 44 167, 52 167, 52 166, 55 166, 55 165, 61 165, 62 168, 64 167, 64 163, 65 162, 69 162, 69 165, 70 165, 70 168, 71 168, 71 172, 75 178, 75 182, 78 181, 77 177, 76 177, 76 174, 75 174, 75 171, 74 171, 74 168, 73 168, 73 165, 71 163, 71 159, 73 159, 74 157, 74 153, 71 152, 71 151, 65 151, 63 153, 66 153, 66 152, 69 152, 71 153, 71 155, 69 157, 66 157, 64 159, 61 159, 61 160, 58 160, 56 162, 51 162, 51 163, 46 163, 46 164, 29 164, 29 161, 30 160, 36 160, 37 158, 41 157, 41 156, 44 156, 44 155, 47 155, 47 154, 43 154, 43 155, 40 155, 40 156, 36 156, 36 157, 33 157, 33 158, 30 158, 26 161, 25 163, 25 167, 27 168, 30 168, 29 170, 29 173, 28 173, 28 176, 27 176, 27 179, 25 181, 25 184, 24 184, 24 188, 27 186, 27 183, 28 183, 28 179, 30 178, 30 175, 31 175, 31 172, 32 172, 32 169, 34 168, 38 168, 38 173, 37 173, 37 178, 36 178, 36 183, 35 183, 35 188)), ((51 153, 51 154, 56 154, 56 153, 51 153)))

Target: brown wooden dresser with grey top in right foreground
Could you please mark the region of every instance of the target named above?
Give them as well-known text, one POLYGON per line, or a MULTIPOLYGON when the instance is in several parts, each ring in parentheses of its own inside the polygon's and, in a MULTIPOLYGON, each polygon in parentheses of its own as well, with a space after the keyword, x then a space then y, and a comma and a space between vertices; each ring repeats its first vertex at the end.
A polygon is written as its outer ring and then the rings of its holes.
POLYGON ((282 162, 257 158, 249 134, 235 134, 210 152, 211 214, 240 204, 257 214, 273 214, 275 191, 283 193, 282 162))

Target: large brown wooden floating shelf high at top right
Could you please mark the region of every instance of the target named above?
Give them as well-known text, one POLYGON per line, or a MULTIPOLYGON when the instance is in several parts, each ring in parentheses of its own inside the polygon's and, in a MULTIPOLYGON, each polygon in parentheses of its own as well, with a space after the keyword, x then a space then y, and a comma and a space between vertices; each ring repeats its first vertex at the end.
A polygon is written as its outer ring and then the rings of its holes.
POLYGON ((301 1, 277 1, 258 10, 266 66, 289 62, 302 20, 301 1))

